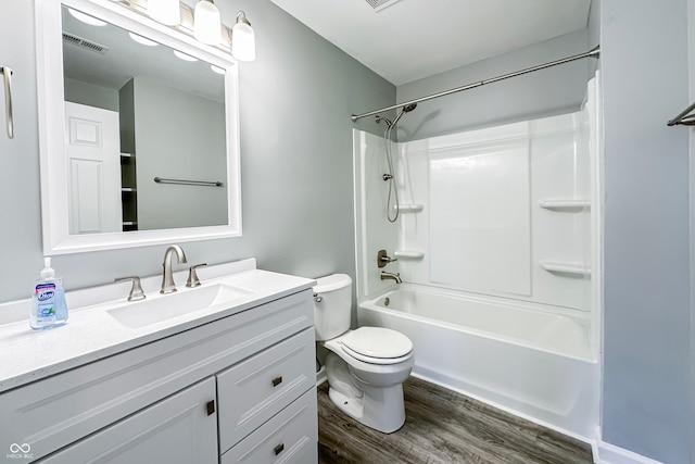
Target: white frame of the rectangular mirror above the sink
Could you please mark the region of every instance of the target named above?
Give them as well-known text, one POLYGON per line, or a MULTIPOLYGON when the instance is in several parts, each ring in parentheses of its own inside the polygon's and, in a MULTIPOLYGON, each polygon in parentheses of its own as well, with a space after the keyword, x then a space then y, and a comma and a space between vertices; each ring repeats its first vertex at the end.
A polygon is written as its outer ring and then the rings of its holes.
MULTIPOLYGON (((239 150, 239 77, 237 62, 223 50, 161 25, 109 0, 36 0, 36 67, 41 171, 43 252, 68 254, 169 242, 241 236, 239 150), (140 36, 226 70, 228 225, 162 230, 70 235, 68 191, 65 179, 65 110, 61 7, 72 7, 140 36)), ((176 210, 172 205, 173 211, 176 210)))

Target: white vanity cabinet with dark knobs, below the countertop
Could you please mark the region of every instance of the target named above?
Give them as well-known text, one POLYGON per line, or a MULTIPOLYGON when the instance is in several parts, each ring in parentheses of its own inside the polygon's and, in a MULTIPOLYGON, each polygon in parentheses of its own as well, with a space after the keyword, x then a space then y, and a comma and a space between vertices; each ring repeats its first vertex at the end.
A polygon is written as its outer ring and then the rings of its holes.
POLYGON ((0 437, 51 464, 317 462, 315 383, 306 289, 5 391, 0 437))

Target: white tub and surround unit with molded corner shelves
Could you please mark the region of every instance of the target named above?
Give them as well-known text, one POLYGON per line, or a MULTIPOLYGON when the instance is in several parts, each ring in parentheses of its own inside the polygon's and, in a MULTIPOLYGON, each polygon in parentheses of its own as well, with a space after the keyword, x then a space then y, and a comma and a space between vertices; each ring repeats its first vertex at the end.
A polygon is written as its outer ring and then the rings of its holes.
POLYGON ((395 224, 384 140, 354 131, 358 325, 410 338, 416 375, 586 441, 601 372, 597 81, 574 113, 396 143, 395 224), (378 267, 379 250, 399 261, 378 267))

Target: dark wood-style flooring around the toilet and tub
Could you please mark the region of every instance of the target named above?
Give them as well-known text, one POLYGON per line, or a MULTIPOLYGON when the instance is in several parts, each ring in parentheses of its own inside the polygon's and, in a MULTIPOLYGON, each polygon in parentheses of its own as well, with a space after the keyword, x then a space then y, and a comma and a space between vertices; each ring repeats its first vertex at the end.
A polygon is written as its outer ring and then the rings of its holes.
POLYGON ((318 388, 319 463, 593 463, 591 447, 463 394, 410 377, 406 421, 386 435, 343 414, 318 388))

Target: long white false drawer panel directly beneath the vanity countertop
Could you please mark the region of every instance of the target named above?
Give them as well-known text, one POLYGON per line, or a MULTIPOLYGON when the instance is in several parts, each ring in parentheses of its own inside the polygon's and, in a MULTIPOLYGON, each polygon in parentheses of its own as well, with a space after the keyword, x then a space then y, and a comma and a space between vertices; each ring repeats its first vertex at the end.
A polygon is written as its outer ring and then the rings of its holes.
POLYGON ((0 394, 0 437, 42 457, 312 326, 311 290, 0 394))

